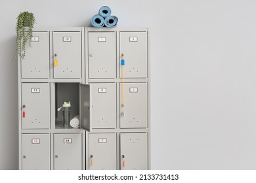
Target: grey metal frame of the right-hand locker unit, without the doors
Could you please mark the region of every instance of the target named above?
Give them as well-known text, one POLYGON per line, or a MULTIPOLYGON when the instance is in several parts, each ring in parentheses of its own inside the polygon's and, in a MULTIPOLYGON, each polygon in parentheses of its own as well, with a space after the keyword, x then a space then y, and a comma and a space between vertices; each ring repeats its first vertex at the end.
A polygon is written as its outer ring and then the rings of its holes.
MULTIPOLYGON (((117 105, 117 116, 116 116, 116 129, 92 129, 90 133, 116 133, 116 137, 117 137, 117 169, 119 169, 119 163, 120 163, 120 160, 119 160, 119 150, 120 150, 120 146, 119 146, 119 134, 120 133, 147 133, 148 134, 148 144, 147 144, 147 147, 148 147, 148 169, 150 169, 151 165, 150 165, 150 56, 149 56, 149 44, 150 44, 150 41, 148 39, 149 37, 149 34, 148 34, 148 28, 112 28, 112 29, 108 29, 108 28, 105 28, 105 27, 102 27, 100 29, 98 28, 93 28, 93 27, 85 27, 85 39, 88 37, 88 33, 89 32, 107 32, 107 31, 116 31, 116 73, 117 73, 117 77, 116 78, 89 78, 89 61, 88 61, 88 58, 89 58, 89 52, 87 51, 88 50, 88 46, 89 44, 85 44, 85 82, 88 83, 88 84, 95 84, 95 83, 109 83, 109 82, 114 82, 116 83, 116 93, 117 93, 117 96, 116 96, 116 105, 117 105), (142 127, 142 128, 136 128, 136 127, 133 127, 133 128, 120 128, 120 109, 119 109, 119 103, 120 103, 120 96, 119 96, 119 91, 120 91, 120 86, 119 84, 121 83, 121 77, 119 75, 120 73, 120 67, 121 67, 121 64, 120 64, 120 60, 121 60, 121 53, 120 53, 120 49, 119 49, 119 46, 120 46, 120 42, 119 42, 119 33, 120 32, 145 32, 146 33, 146 39, 147 39, 147 55, 146 55, 146 58, 147 58, 147 74, 146 74, 146 78, 124 78, 124 82, 144 82, 147 84, 147 94, 148 94, 148 97, 147 97, 147 100, 148 100, 148 107, 147 107, 147 111, 148 111, 148 121, 147 121, 147 125, 146 127, 142 127)), ((86 146, 85 148, 88 149, 89 148, 89 141, 88 141, 88 138, 89 138, 89 132, 86 132, 86 146)), ((86 162, 89 162, 90 159, 89 159, 89 152, 86 152, 86 156, 85 156, 85 161, 86 162)), ((86 166, 85 166, 86 169, 89 169, 89 164, 87 163, 86 166)))

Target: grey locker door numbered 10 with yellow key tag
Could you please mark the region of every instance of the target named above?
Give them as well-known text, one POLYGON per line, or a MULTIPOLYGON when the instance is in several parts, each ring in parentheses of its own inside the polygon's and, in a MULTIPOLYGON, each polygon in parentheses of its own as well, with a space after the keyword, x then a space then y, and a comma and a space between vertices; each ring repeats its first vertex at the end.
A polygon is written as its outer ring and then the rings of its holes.
POLYGON ((53 57, 54 78, 81 78, 81 33, 54 32, 53 57))

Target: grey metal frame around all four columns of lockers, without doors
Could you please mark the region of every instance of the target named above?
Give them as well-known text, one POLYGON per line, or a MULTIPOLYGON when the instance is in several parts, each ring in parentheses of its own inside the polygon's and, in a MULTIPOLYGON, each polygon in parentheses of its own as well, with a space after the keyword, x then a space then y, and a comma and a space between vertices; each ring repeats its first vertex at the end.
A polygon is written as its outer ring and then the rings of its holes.
MULTIPOLYGON (((112 29, 102 27, 102 28, 94 28, 94 27, 35 27, 33 31, 45 31, 49 33, 49 77, 48 78, 22 78, 22 69, 21 69, 21 59, 18 57, 18 133, 19 133, 19 169, 22 169, 22 134, 26 133, 48 133, 50 135, 50 149, 51 149, 51 169, 54 168, 53 162, 53 149, 54 149, 54 133, 81 133, 82 142, 81 142, 81 150, 82 150, 82 168, 89 169, 88 163, 89 162, 89 132, 83 129, 63 129, 55 125, 55 83, 61 82, 75 82, 81 84, 91 84, 91 83, 115 83, 116 84, 116 128, 114 129, 92 129, 92 127, 88 127, 90 133, 115 133, 116 134, 116 163, 117 169, 119 169, 120 164, 120 146, 119 146, 119 134, 120 133, 148 133, 148 169, 150 169, 150 39, 147 27, 142 28, 122 28, 122 27, 115 27, 112 29), (80 78, 54 78, 54 71, 53 71, 53 63, 54 63, 54 56, 53 56, 53 32, 80 32, 81 33, 81 77, 80 78), (89 32, 115 32, 116 33, 116 77, 115 78, 89 78, 89 44, 88 44, 88 34, 89 32), (148 84, 148 125, 146 128, 130 128, 130 129, 121 129, 119 125, 119 118, 120 118, 120 96, 119 90, 121 83, 120 78, 120 32, 144 32, 147 35, 147 76, 146 78, 124 78, 124 82, 146 82, 148 84), (49 129, 22 129, 22 101, 21 101, 21 85, 22 83, 26 82, 35 82, 35 83, 49 83, 50 85, 50 128, 49 129)), ((80 104, 81 105, 81 104, 80 104)), ((93 105, 93 101, 91 101, 90 107, 93 105)), ((81 110, 81 107, 80 107, 81 110)), ((80 112, 81 114, 81 112, 80 112)), ((81 116, 80 116, 81 117, 81 116)), ((90 117, 91 118, 91 117, 90 117)), ((81 120, 81 119, 80 119, 81 120)))

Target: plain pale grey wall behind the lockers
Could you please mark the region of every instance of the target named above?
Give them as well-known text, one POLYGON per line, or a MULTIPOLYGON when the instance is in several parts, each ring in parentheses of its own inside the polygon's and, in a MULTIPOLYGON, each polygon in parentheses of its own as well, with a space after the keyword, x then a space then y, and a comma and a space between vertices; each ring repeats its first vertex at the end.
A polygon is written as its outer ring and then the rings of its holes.
POLYGON ((256 169, 255 0, 2 0, 0 169, 18 169, 16 17, 89 26, 102 5, 150 27, 152 169, 256 169))

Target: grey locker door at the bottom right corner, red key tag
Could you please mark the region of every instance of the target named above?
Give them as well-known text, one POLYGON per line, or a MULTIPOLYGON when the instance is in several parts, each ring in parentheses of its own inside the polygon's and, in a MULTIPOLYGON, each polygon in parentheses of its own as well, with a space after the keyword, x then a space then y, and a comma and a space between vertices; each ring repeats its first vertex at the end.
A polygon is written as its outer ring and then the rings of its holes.
POLYGON ((120 133, 121 170, 148 169, 148 134, 120 133))

